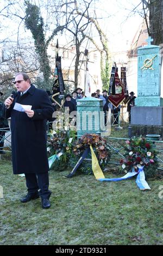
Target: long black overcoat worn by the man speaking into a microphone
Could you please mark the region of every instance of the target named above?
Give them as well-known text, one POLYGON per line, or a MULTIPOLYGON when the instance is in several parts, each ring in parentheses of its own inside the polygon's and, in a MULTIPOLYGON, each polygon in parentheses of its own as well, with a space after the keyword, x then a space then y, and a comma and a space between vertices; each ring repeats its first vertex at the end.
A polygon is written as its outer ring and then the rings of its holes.
POLYGON ((48 94, 36 89, 33 84, 27 93, 16 93, 14 101, 6 111, 11 117, 11 149, 14 174, 48 172, 46 119, 53 114, 48 94), (16 111, 15 102, 32 105, 33 118, 25 112, 16 111))

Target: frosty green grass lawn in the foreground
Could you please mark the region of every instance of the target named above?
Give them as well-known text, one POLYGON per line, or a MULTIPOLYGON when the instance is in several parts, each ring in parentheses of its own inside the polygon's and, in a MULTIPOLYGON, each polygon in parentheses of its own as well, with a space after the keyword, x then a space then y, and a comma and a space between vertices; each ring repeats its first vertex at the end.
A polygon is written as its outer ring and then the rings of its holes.
MULTIPOLYGON (((24 178, 12 174, 10 160, 0 160, 4 199, 0 199, 0 245, 162 245, 162 180, 148 180, 140 191, 135 178, 99 182, 77 171, 49 172, 49 209, 41 200, 26 204, 24 178)), ((106 178, 115 176, 105 173, 106 178)))

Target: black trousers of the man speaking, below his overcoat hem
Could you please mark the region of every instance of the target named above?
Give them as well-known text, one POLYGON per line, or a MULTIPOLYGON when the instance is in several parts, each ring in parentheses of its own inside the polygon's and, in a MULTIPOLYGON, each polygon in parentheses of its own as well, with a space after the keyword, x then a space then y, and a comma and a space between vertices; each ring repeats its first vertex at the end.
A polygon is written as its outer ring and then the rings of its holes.
POLYGON ((26 176, 26 186, 28 188, 29 194, 37 194, 38 190, 41 199, 45 199, 51 196, 51 191, 48 190, 49 187, 49 174, 47 173, 25 173, 26 176))

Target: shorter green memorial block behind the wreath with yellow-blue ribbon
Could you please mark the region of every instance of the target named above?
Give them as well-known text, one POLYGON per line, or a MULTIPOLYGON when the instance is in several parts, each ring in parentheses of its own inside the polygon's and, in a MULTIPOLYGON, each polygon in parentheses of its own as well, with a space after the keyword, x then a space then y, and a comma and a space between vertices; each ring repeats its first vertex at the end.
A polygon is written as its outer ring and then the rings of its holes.
POLYGON ((101 135, 104 124, 103 100, 85 97, 77 100, 77 136, 85 133, 101 135))

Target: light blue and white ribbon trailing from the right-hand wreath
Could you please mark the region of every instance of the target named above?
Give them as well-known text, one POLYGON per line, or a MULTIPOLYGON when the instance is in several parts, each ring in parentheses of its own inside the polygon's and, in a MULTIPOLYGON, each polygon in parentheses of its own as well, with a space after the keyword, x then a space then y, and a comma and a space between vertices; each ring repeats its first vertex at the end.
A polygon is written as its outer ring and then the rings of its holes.
POLYGON ((140 188, 140 190, 151 190, 149 187, 147 181, 145 180, 145 173, 143 171, 144 166, 140 167, 138 172, 135 172, 135 169, 133 168, 132 172, 127 173, 121 178, 112 178, 112 179, 98 179, 99 181, 120 181, 120 180, 127 180, 131 177, 135 176, 137 174, 136 178, 136 184, 140 188))

